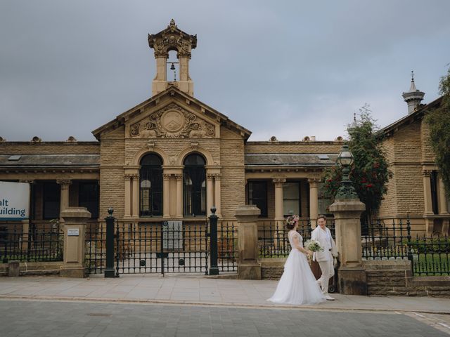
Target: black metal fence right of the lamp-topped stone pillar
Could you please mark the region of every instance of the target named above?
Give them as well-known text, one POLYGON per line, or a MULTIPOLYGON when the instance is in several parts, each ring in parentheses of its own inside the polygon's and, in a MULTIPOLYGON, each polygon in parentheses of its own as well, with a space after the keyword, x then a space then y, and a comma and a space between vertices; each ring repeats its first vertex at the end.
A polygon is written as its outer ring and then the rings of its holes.
POLYGON ((377 220, 362 236, 363 258, 367 260, 408 259, 413 275, 450 275, 448 235, 411 235, 411 222, 377 220))

